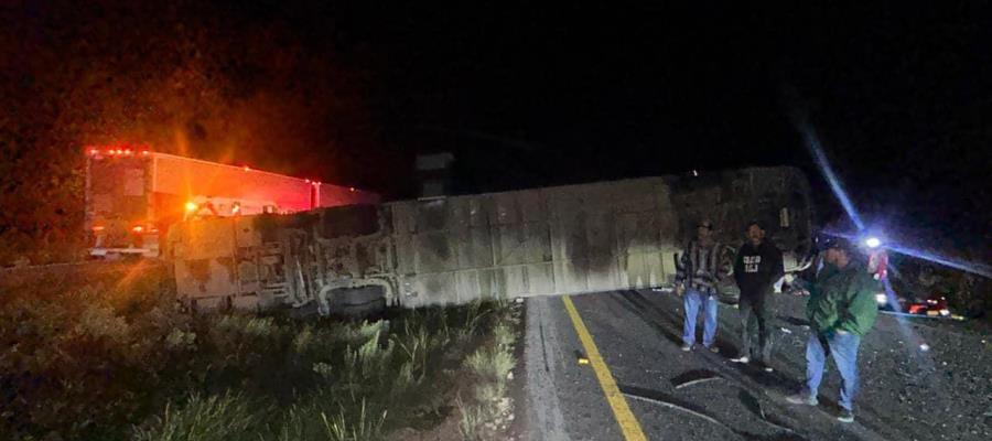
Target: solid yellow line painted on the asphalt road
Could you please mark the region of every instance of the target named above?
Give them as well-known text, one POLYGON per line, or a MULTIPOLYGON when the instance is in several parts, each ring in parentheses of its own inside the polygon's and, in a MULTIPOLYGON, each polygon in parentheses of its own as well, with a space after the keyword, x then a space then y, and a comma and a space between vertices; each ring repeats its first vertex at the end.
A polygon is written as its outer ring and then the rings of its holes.
POLYGON ((627 441, 646 441, 647 438, 644 435, 644 431, 640 430, 640 423, 634 418, 630 407, 627 406, 627 400, 621 394, 619 388, 616 387, 616 380, 613 379, 613 374, 610 373, 610 368, 603 362, 600 349, 596 348, 596 343, 593 342, 585 323, 579 316, 579 311, 575 311, 572 299, 568 295, 562 295, 561 301, 564 302, 565 310, 569 311, 569 316, 572 318, 572 325, 575 326, 575 332, 579 333, 579 341, 582 342, 582 347, 585 348, 585 356, 589 357, 590 363, 593 365, 593 370, 596 373, 596 378, 600 379, 603 395, 606 396, 606 401, 610 402, 610 407, 613 409, 613 416, 616 417, 616 422, 619 424, 621 431, 624 432, 624 439, 627 441))

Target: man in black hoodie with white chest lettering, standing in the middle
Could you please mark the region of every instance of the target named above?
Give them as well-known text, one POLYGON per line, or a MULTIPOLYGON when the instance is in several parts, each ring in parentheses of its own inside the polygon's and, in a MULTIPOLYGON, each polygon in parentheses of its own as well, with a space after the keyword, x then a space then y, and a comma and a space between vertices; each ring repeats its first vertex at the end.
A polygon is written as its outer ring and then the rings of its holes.
POLYGON ((754 356, 751 322, 757 321, 758 357, 766 372, 772 372, 772 293, 774 284, 785 273, 781 251, 769 240, 765 240, 765 229, 757 222, 747 224, 747 239, 734 261, 734 279, 741 290, 741 356, 736 363, 748 363, 754 356))

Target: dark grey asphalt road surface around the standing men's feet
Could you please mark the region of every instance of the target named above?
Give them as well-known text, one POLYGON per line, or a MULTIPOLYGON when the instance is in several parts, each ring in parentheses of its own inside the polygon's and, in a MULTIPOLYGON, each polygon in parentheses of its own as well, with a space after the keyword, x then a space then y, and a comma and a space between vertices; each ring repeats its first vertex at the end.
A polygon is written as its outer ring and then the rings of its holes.
MULTIPOLYGON (((571 297, 639 429, 649 440, 992 439, 992 337, 959 323, 880 315, 862 341, 855 422, 835 420, 832 361, 817 407, 785 396, 805 378, 805 298, 776 295, 775 372, 730 362, 737 310, 720 305, 720 354, 682 352, 681 299, 656 291, 571 297), (920 345, 928 344, 926 351, 920 345)), ((561 298, 527 300, 524 369, 531 440, 624 440, 561 298)), ((702 332, 702 323, 698 326, 702 332)), ((519 413, 519 412, 518 412, 519 413)))

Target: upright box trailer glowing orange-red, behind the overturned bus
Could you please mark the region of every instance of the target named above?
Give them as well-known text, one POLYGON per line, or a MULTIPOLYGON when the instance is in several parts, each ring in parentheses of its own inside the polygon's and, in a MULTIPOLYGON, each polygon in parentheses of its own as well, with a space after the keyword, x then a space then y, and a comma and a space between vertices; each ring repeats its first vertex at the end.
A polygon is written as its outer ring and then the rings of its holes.
POLYGON ((375 204, 354 187, 152 151, 86 148, 86 230, 94 257, 160 255, 181 220, 375 204))

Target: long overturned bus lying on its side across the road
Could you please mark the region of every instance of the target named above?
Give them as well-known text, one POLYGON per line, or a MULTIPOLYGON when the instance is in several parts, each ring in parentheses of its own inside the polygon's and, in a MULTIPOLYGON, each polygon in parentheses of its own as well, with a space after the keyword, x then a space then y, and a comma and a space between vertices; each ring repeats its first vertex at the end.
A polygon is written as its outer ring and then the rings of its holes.
POLYGON ((809 183, 794 168, 207 218, 177 224, 169 241, 179 293, 195 308, 362 315, 669 286, 702 217, 727 263, 752 219, 787 267, 810 251, 809 183))

